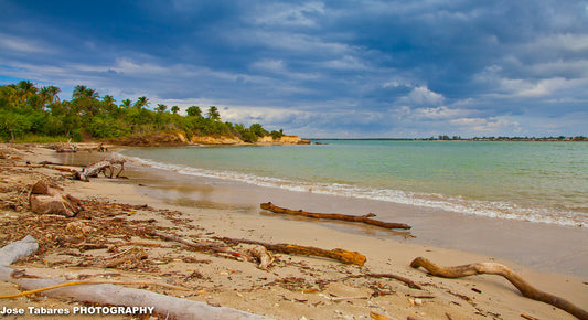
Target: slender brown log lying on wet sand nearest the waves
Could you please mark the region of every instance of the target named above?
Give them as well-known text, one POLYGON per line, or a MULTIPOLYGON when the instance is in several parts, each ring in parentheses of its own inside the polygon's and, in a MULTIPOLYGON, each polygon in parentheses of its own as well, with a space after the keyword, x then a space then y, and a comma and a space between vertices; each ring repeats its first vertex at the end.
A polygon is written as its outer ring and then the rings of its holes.
POLYGON ((286 207, 279 207, 279 206, 274 205, 271 202, 261 203, 260 206, 263 210, 271 211, 274 213, 299 215, 299 216, 314 217, 314 218, 360 222, 360 223, 365 223, 365 224, 375 225, 375 226, 385 227, 385 228, 406 228, 406 230, 410 228, 409 225, 404 224, 404 223, 394 223, 394 222, 384 222, 384 221, 373 220, 372 217, 375 216, 375 214, 373 213, 362 215, 362 216, 339 214, 339 213, 313 213, 313 212, 306 212, 302 210, 290 210, 286 207))

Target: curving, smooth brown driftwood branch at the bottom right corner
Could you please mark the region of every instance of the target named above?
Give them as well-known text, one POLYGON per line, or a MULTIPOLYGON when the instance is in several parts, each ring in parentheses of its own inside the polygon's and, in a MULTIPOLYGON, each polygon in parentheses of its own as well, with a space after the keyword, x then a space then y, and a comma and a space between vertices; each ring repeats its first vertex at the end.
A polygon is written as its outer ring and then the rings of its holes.
POLYGON ((413 263, 410 263, 410 267, 423 267, 427 269, 431 275, 442 278, 461 278, 483 274, 503 276, 504 278, 506 278, 506 280, 513 284, 524 297, 549 303, 573 314, 578 319, 588 320, 588 312, 586 310, 576 307, 564 298, 535 289, 528 282, 523 280, 523 278, 521 278, 518 275, 516 275, 506 266, 501 264, 479 263, 456 267, 440 267, 424 257, 417 257, 413 260, 413 263))

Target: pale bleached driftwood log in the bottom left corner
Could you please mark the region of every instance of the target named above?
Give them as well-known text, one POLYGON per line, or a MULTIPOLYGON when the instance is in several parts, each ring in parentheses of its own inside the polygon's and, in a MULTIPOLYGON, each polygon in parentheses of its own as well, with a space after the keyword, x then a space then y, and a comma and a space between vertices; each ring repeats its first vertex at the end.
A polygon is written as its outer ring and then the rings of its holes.
MULTIPOLYGON (((8 266, 32 255, 39 248, 36 241, 26 236, 0 249, 0 280, 18 285, 25 290, 67 282, 60 279, 14 278, 8 266)), ((226 307, 212 307, 203 302, 154 294, 116 285, 79 285, 44 291, 55 298, 71 298, 106 306, 153 307, 157 314, 171 319, 268 319, 226 307)))

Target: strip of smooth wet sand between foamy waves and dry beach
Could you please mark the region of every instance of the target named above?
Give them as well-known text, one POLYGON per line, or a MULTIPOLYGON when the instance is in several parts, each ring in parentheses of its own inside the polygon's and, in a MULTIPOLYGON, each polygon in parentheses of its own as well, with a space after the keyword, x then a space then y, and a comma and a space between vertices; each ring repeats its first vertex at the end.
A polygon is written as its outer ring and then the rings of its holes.
MULTIPOLYGON (((135 163, 127 171, 140 179, 141 192, 173 205, 236 209, 245 214, 265 214, 263 202, 309 212, 351 215, 377 214, 378 220, 408 223, 410 232, 386 232, 334 222, 325 227, 346 233, 379 236, 423 245, 473 252, 513 260, 541 271, 568 274, 588 279, 588 231, 584 227, 496 218, 442 209, 317 194, 260 186, 222 178, 183 174, 135 163), (261 213, 260 213, 261 212, 261 213), (560 235, 566 238, 562 239, 560 235), (405 236, 411 235, 408 238, 405 236), (415 237, 413 237, 415 236, 415 237)), ((286 217, 281 217, 286 218, 286 217)))

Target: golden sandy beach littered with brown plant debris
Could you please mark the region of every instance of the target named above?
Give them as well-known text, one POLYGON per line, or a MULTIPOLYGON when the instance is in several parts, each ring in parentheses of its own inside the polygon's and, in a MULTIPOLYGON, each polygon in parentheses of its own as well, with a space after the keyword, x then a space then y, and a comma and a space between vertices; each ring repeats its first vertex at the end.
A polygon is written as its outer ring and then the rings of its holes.
MULTIPOLYGON (((469 216, 453 216, 448 223, 443 214, 435 215, 436 221, 432 213, 417 215, 415 211, 419 209, 398 206, 394 216, 384 217, 410 224, 413 230, 391 232, 342 222, 281 216, 258 207, 260 202, 271 200, 292 209, 363 215, 379 214, 384 204, 365 207, 364 202, 350 199, 255 189, 245 184, 225 185, 223 181, 213 180, 194 184, 188 179, 170 179, 162 172, 132 163, 124 173, 128 179, 100 177, 90 178, 89 182, 72 181, 67 179, 71 173, 35 163, 85 166, 113 154, 86 151, 56 154, 44 148, 7 145, 1 151, 4 159, 0 160, 0 245, 24 237, 23 232, 38 238, 39 253, 11 266, 28 275, 182 286, 188 290, 129 285, 275 319, 370 319, 372 311, 391 319, 523 319, 522 314, 531 317, 527 319, 575 319, 553 306, 523 297, 499 276, 446 279, 429 276, 423 268, 411 268, 410 262, 423 256, 441 266, 504 264, 537 289, 588 309, 588 248, 586 242, 581 242, 586 239, 586 231, 580 228, 559 228, 569 237, 566 244, 574 245, 558 249, 558 235, 549 232, 548 225, 527 227, 528 223, 524 222, 469 216), (41 179, 82 200, 85 210, 68 218, 32 213, 26 205, 28 191, 41 179), (72 230, 63 227, 72 222, 88 226, 90 231, 74 236, 72 230), (113 233, 115 226, 119 226, 120 232, 113 233), (507 228, 511 236, 495 232, 501 227, 507 228), (199 242, 231 237, 343 248, 361 253, 367 260, 356 266, 274 253, 275 262, 268 269, 261 269, 247 258, 195 252, 180 243, 137 232, 147 228, 199 242), (99 237, 101 246, 89 246, 94 244, 88 241, 92 237, 99 237), (467 238, 472 241, 463 241, 467 238), (522 245, 506 249, 513 242, 522 245), (108 264, 132 250, 140 250, 140 259, 129 257, 125 263, 108 264), (549 252, 553 258, 546 262, 549 252), (402 276, 418 284, 420 289, 392 278, 366 276, 374 274, 402 276)), ((235 248, 245 250, 248 246, 235 248)), ((0 292, 20 291, 12 284, 0 282, 0 292)), ((35 295, 4 299, 0 303, 0 308, 72 308, 82 301, 35 295)), ((31 314, 3 317, 36 318, 31 314)), ((152 317, 165 319, 165 314, 152 317)), ((67 316, 52 319, 63 318, 67 316)))

